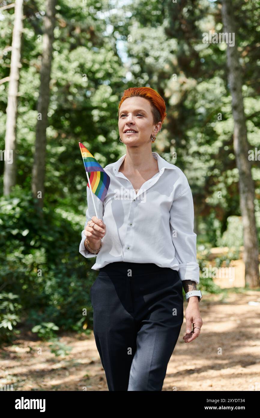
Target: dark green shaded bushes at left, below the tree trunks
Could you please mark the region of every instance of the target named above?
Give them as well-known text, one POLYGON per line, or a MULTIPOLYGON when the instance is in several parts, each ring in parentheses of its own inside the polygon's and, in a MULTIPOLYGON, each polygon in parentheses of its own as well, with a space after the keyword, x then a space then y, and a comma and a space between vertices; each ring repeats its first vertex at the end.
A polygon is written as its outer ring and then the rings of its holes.
MULTIPOLYGON (((7 293, 12 289, 19 296, 25 325, 40 326, 43 337, 43 323, 53 322, 59 331, 86 332, 92 327, 89 291, 96 271, 91 269, 93 260, 78 252, 84 222, 84 217, 66 217, 48 204, 41 217, 31 194, 19 186, 10 197, 0 197, 0 283, 7 293)), ((18 324, 18 306, 15 309, 5 313, 12 321, 9 334, 18 324)))

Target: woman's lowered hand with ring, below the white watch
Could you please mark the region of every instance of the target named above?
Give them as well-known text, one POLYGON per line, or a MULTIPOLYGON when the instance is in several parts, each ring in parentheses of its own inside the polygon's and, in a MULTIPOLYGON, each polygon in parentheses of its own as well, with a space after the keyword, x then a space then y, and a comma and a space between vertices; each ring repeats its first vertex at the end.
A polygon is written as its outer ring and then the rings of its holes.
MULTIPOLYGON (((197 296, 192 296, 192 298, 197 298, 197 296)), ((189 300, 188 306, 185 311, 186 318, 186 335, 184 335, 184 342, 192 342, 195 338, 199 336, 200 329, 202 327, 203 321, 199 312, 199 301, 189 300), (193 324, 193 330, 192 329, 193 324)))

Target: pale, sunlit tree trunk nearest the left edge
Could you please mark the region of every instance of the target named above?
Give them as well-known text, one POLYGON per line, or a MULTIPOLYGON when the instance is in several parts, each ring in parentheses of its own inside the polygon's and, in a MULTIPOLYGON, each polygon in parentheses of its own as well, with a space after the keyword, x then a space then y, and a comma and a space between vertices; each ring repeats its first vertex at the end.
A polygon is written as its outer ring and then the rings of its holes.
POLYGON ((19 68, 21 67, 21 37, 23 32, 23 0, 15 2, 13 25, 12 53, 10 64, 10 81, 8 87, 8 104, 6 108, 5 130, 5 168, 4 194, 10 194, 16 182, 16 118, 19 85, 19 68))

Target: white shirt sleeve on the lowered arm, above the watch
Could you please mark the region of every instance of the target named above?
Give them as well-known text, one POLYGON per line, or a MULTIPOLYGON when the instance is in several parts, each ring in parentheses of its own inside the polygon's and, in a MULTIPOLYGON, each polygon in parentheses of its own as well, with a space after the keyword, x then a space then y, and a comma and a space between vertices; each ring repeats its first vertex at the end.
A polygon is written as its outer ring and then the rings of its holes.
MULTIPOLYGON (((187 186, 187 183, 186 183, 187 186)), ((170 209, 170 229, 179 262, 181 280, 199 283, 199 264, 197 263, 197 234, 194 233, 194 206, 190 186, 177 196, 170 209)))

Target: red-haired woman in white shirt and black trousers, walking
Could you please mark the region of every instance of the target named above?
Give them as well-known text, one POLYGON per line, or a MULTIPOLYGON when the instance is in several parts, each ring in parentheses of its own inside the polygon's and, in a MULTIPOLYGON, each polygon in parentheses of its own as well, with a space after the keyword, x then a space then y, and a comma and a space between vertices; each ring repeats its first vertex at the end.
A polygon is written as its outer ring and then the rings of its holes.
POLYGON ((104 168, 110 185, 103 203, 93 196, 98 218, 87 187, 79 251, 97 255, 93 329, 109 390, 162 390, 183 323, 182 287, 184 341, 202 327, 192 193, 182 170, 151 150, 165 110, 150 87, 125 90, 118 126, 126 154, 104 168))

